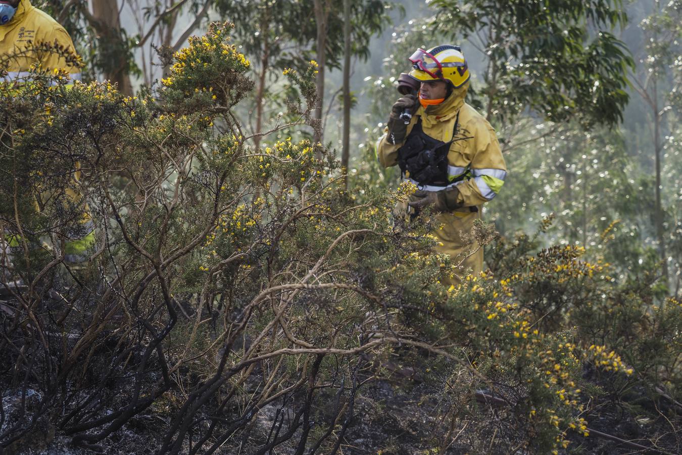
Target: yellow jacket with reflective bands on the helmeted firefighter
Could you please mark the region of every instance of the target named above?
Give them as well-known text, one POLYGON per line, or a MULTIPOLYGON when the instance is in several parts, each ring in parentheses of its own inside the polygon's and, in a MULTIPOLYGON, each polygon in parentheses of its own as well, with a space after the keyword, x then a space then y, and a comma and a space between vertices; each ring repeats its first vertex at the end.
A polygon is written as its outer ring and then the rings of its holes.
MULTIPOLYGON (((419 107, 407 126, 408 136, 417 117, 421 117, 421 128, 434 139, 449 142, 458 119, 454 141, 450 145, 448 176, 454 183, 447 186, 424 186, 412 181, 421 190, 439 191, 451 186, 459 190, 457 201, 449 201, 458 207, 478 206, 493 199, 504 184, 507 166, 500 151, 500 145, 492 126, 483 116, 464 102, 469 83, 455 89, 441 104, 419 107), (459 118, 458 118, 459 113, 459 118)), ((385 134, 376 147, 379 162, 384 167, 398 163, 398 149, 402 143, 391 144, 385 134)), ((409 176, 406 180, 411 180, 409 176)))

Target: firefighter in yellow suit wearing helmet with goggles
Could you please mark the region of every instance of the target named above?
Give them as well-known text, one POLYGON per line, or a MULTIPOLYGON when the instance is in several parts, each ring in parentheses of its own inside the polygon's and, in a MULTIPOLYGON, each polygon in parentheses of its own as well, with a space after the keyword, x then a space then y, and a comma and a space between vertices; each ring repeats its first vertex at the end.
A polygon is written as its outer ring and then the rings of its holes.
POLYGON ((402 177, 418 188, 398 213, 425 207, 439 212, 436 251, 461 263, 460 273, 448 280, 456 284, 483 269, 483 250, 469 233, 482 205, 502 188, 507 166, 490 123, 464 102, 469 68, 460 48, 418 49, 410 61, 419 98, 408 95, 394 104, 377 155, 385 167, 398 164, 402 177), (406 123, 404 113, 410 112, 406 123))

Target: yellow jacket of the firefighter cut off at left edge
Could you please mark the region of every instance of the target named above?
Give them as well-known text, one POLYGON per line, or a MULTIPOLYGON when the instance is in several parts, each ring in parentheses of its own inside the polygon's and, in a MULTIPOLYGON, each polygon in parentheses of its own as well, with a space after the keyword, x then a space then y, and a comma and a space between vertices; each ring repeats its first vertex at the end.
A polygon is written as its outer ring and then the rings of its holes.
POLYGON ((41 63, 43 70, 65 69, 72 80, 80 80, 80 68, 67 63, 62 55, 54 52, 38 52, 31 44, 57 43, 75 54, 74 44, 64 27, 48 14, 31 5, 30 0, 20 0, 12 20, 0 25, 0 61, 6 61, 8 75, 5 80, 26 80, 34 63, 41 63), (10 56, 11 58, 5 58, 10 56))

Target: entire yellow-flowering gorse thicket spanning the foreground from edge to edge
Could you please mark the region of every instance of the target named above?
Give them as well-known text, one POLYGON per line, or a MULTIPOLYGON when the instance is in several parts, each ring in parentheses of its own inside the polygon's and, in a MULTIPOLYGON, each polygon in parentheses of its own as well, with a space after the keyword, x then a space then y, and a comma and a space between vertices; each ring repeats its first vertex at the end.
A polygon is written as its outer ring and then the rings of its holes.
MULTIPOLYGON (((494 241, 490 270, 448 289, 461 258, 431 252, 430 214, 391 220, 413 188, 346 191, 323 145, 245 132, 233 108, 253 84, 230 27, 136 97, 38 71, 0 86, 3 447, 136 431, 158 453, 334 453, 381 412, 368 397, 396 356, 441 400, 423 450, 577 446, 604 397, 674 413, 680 302, 527 236, 494 241)), ((318 127, 315 72, 284 70, 301 98, 273 132, 318 127)))

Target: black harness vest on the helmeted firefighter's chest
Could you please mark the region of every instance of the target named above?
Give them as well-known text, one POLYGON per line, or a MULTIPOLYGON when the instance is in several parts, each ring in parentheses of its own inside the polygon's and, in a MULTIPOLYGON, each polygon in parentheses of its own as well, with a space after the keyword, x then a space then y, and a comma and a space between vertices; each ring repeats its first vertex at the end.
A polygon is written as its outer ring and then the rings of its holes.
POLYGON ((398 166, 404 177, 417 181, 420 185, 447 186, 452 182, 447 173, 447 153, 454 141, 460 123, 457 113, 452 138, 449 142, 432 138, 421 128, 421 115, 407 136, 405 143, 398 149, 398 166))

